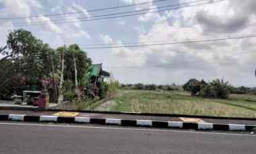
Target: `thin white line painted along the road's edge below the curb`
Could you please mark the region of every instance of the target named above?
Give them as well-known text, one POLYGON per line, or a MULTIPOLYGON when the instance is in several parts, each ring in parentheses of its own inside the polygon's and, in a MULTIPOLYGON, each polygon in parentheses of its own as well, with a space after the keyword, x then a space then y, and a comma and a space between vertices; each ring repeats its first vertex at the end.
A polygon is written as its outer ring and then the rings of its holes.
POLYGON ((143 130, 143 131, 152 131, 152 132, 179 132, 179 133, 195 133, 195 134, 223 134, 223 135, 234 135, 234 136, 245 136, 245 137, 256 137, 252 134, 234 134, 234 133, 224 133, 224 132, 200 132, 200 131, 186 131, 186 130, 161 130, 161 129, 145 129, 145 128, 118 128, 118 127, 100 127, 100 126, 67 126, 67 125, 54 125, 54 124, 28 124, 28 123, 7 123, 0 122, 0 124, 6 125, 20 125, 20 126, 53 126, 53 127, 64 127, 64 128, 99 128, 99 129, 117 129, 117 130, 143 130))

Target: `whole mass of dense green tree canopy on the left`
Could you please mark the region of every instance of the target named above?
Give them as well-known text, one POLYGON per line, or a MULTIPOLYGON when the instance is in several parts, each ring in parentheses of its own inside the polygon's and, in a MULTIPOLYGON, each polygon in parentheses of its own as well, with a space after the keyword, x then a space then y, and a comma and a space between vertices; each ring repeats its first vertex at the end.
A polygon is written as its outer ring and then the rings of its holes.
POLYGON ((9 32, 7 44, 0 48, 0 53, 4 55, 0 60, 0 95, 20 94, 24 85, 24 89, 51 91, 51 100, 57 102, 61 91, 78 90, 86 85, 86 71, 92 65, 92 60, 77 44, 55 50, 22 29, 9 32), (60 88, 61 77, 70 86, 60 88))

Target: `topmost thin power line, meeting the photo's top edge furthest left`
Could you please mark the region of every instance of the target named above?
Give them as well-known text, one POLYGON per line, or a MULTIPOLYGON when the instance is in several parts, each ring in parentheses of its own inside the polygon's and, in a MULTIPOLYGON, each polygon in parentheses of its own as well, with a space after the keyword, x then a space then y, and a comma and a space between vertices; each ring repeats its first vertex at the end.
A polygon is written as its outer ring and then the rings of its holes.
MULTIPOLYGON (((167 0, 156 0, 156 1, 147 1, 147 2, 142 2, 142 3, 135 3, 135 4, 130 4, 130 5, 122 5, 122 6, 116 6, 116 7, 105 7, 101 9, 90 9, 86 10, 87 12, 95 12, 95 11, 106 11, 110 9, 120 9, 124 7, 132 7, 132 6, 137 6, 137 5, 146 5, 148 3, 158 3, 162 1, 167 1, 167 0)), ((57 16, 57 15, 69 15, 69 14, 77 14, 77 13, 84 13, 84 11, 72 11, 72 12, 63 12, 63 13, 51 13, 51 14, 44 14, 44 17, 50 17, 50 16, 57 16)), ((28 19, 32 17, 40 17, 42 15, 32 15, 28 17, 1 17, 0 20, 21 20, 21 19, 28 19)))

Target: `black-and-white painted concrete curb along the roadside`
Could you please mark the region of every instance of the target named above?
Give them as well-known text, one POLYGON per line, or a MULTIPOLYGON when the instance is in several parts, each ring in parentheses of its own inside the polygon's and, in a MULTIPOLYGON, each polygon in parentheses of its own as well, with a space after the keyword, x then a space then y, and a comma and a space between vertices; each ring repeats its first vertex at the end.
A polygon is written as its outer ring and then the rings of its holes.
POLYGON ((27 116, 24 114, 0 114, 0 121, 24 121, 24 122, 59 122, 59 123, 85 123, 108 124, 119 126, 143 126, 153 128, 181 128, 193 130, 239 130, 253 131, 254 125, 246 124, 214 124, 193 123, 181 121, 154 121, 154 120, 123 120, 114 118, 88 118, 88 117, 64 117, 64 116, 27 116))

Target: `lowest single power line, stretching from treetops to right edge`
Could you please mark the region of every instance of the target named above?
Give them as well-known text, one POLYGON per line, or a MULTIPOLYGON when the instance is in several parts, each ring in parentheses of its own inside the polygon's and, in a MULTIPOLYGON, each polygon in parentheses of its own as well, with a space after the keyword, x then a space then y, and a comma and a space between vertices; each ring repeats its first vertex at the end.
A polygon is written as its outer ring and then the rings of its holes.
POLYGON ((157 43, 157 44, 139 44, 139 45, 124 45, 124 46, 96 46, 96 47, 85 47, 84 49, 103 49, 103 48, 135 48, 135 47, 147 47, 147 46, 164 46, 172 44, 191 44, 199 42, 216 42, 224 40, 237 40, 242 38, 256 38, 256 35, 250 36, 237 36, 237 37, 228 37, 228 38, 214 38, 207 40, 190 40, 190 41, 181 41, 181 42, 168 42, 168 43, 157 43))

